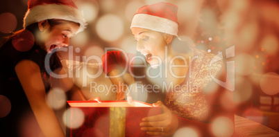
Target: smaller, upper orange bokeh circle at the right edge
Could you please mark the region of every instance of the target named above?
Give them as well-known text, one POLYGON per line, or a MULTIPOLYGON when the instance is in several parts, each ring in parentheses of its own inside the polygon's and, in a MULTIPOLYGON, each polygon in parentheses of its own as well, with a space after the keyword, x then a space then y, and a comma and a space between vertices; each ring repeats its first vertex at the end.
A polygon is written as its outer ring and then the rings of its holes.
POLYGON ((278 53, 279 42, 275 35, 268 35, 262 39, 261 47, 269 55, 275 55, 278 53))

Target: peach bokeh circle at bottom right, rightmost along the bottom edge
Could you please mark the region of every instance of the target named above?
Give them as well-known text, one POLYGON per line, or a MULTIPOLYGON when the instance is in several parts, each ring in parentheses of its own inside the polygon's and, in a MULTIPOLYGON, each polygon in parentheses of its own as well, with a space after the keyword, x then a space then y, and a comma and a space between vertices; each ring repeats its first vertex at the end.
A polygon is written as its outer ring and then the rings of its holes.
POLYGON ((213 120, 211 129, 214 136, 231 136, 234 125, 230 118, 222 116, 213 120))

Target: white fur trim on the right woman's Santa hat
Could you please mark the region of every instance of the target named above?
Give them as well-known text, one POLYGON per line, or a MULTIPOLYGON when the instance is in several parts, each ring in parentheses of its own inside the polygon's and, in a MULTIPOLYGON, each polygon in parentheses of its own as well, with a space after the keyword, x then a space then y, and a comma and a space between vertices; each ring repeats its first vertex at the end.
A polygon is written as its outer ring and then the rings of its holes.
POLYGON ((130 28, 146 28, 160 33, 167 33, 178 37, 178 24, 175 21, 147 14, 137 14, 133 17, 130 28))

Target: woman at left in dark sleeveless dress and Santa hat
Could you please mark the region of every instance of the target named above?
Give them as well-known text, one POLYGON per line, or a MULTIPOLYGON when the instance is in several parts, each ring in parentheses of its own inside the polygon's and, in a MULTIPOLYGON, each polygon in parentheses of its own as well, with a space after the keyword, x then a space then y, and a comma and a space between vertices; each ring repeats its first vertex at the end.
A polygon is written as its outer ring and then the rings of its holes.
MULTIPOLYGON (((65 136, 46 100, 51 86, 57 84, 52 80, 59 77, 51 77, 47 70, 65 73, 53 51, 69 46, 69 38, 84 28, 85 21, 73 1, 28 1, 24 29, 15 32, 0 49, 0 95, 11 104, 10 111, 0 118, 1 136, 24 136, 24 129, 31 126, 28 125, 31 121, 27 124, 24 121, 33 116, 44 136, 65 136), (47 54, 52 52, 48 59, 47 54), (49 66, 45 66, 45 62, 49 66)), ((56 81, 69 82, 67 79, 56 81)), ((73 84, 66 86, 65 90, 73 84)), ((40 132, 31 131, 36 133, 40 132)))

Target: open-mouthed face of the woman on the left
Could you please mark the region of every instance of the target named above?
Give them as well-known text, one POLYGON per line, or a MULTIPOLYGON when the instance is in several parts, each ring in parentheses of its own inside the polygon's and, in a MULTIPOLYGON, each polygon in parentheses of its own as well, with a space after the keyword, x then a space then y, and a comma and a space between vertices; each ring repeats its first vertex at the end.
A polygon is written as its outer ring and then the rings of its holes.
POLYGON ((69 39, 76 34, 78 28, 79 26, 75 23, 65 22, 53 26, 51 30, 44 29, 42 32, 44 50, 51 53, 54 48, 69 46, 69 39))

